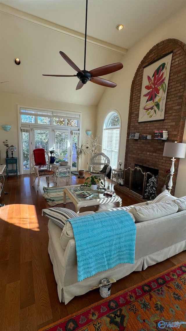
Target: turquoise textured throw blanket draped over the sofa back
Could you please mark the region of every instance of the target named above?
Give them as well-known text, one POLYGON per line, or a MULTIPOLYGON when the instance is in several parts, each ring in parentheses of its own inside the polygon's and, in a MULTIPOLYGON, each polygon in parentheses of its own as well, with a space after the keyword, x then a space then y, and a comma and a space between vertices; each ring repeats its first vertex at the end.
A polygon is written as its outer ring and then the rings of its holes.
POLYGON ((78 281, 119 263, 134 263, 136 225, 126 211, 95 213, 68 221, 75 238, 78 281))

